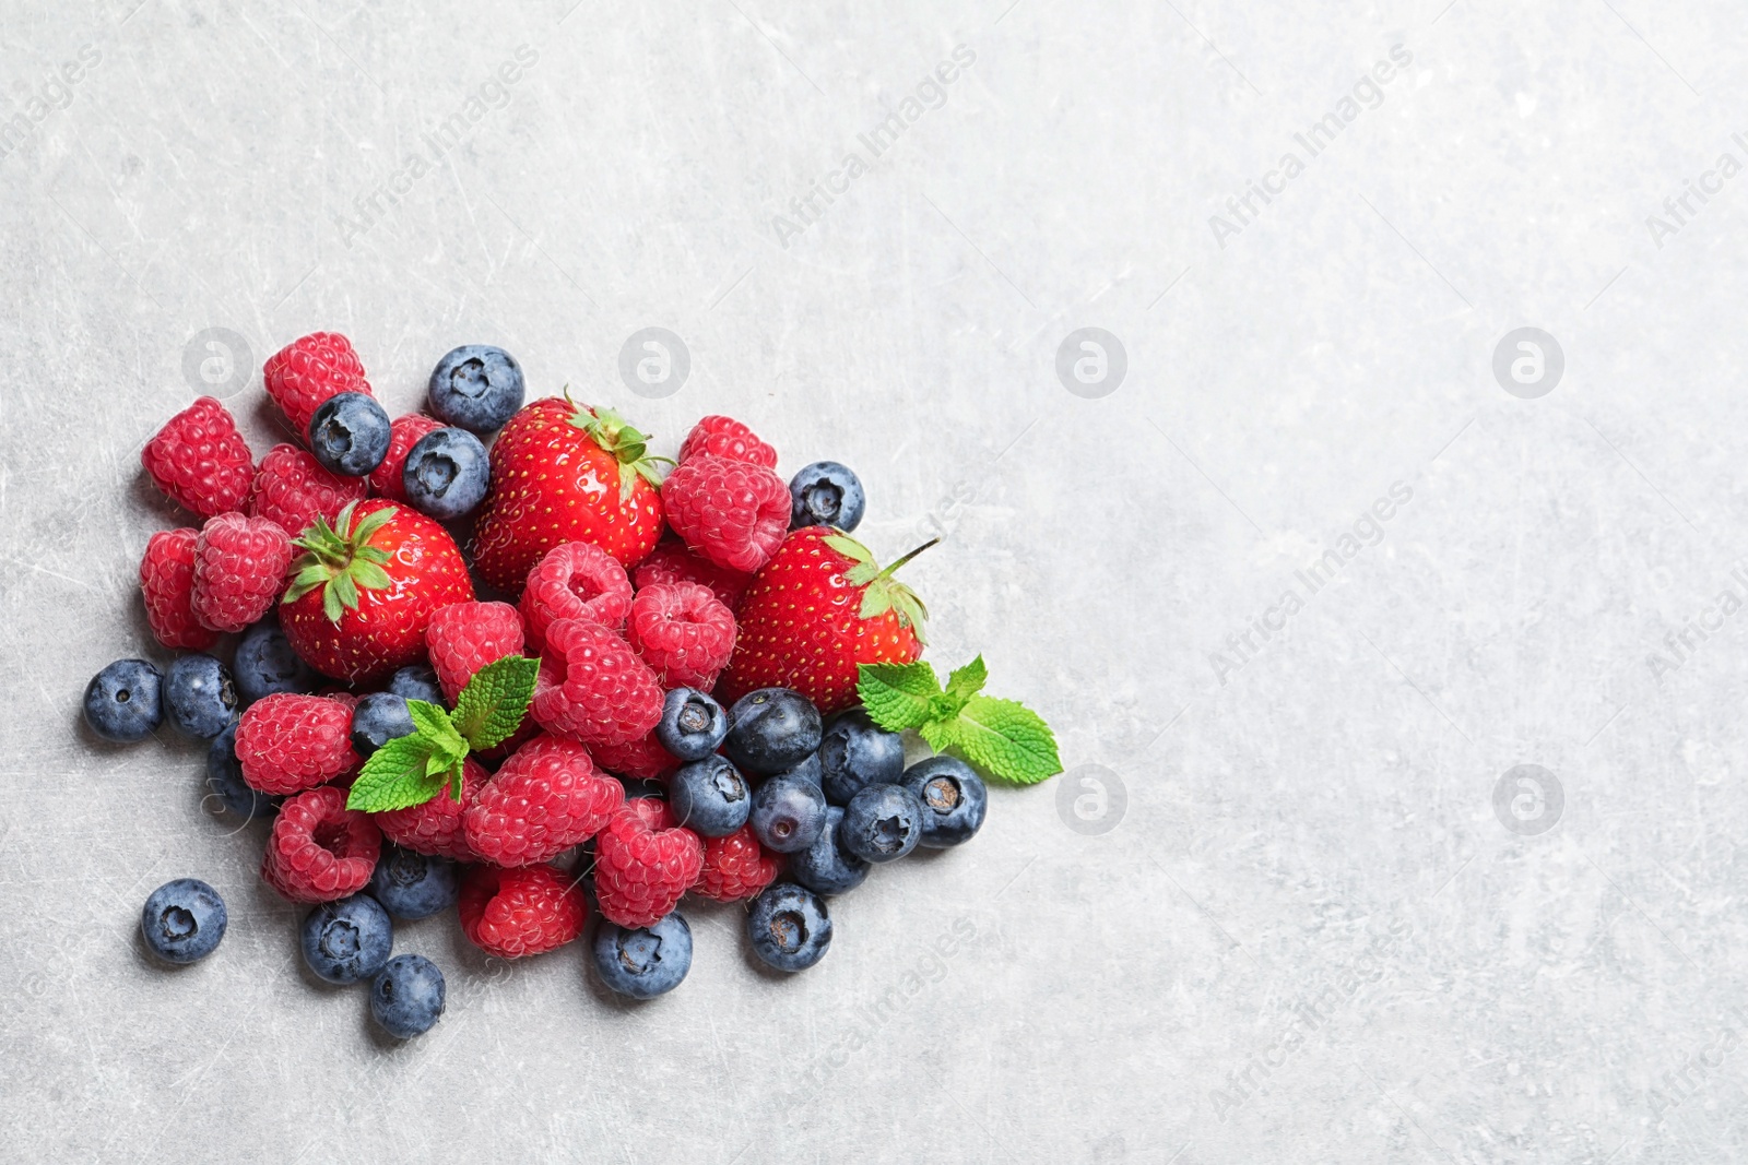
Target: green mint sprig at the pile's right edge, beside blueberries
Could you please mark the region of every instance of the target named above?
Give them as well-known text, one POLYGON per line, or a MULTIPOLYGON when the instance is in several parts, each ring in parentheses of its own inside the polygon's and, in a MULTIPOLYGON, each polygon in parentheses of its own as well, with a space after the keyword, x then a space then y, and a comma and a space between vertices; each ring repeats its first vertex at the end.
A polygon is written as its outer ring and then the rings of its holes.
POLYGON ((991 777, 1037 784, 1063 770, 1044 718, 1016 700, 981 695, 989 678, 979 655, 947 676, 926 662, 862 664, 857 693, 869 718, 888 732, 916 732, 937 753, 958 753, 991 777))

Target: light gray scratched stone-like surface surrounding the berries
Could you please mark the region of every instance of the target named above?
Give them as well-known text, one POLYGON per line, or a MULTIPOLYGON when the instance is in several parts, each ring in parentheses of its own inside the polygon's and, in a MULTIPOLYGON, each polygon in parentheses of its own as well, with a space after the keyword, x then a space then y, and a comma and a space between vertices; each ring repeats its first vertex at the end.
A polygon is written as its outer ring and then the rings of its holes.
POLYGON ((0 3, 0 119, 101 54, 0 157, 0 1155, 1741 1160, 1748 617, 1711 611, 1748 594, 1748 176, 1647 225, 1748 162, 1738 7, 570 5, 0 3), (773 217, 961 44, 785 248, 773 217), (509 103, 360 234, 517 45, 509 103), (1391 45, 1377 108, 1220 246, 1210 217, 1391 45), (692 358, 664 400, 617 376, 650 325, 692 358), (180 519, 138 449, 205 391, 208 327, 252 349, 257 452, 260 360, 337 328, 397 412, 496 342, 659 451, 720 410, 785 473, 848 461, 877 554, 949 531, 907 569, 932 658, 981 650, 1112 774, 1105 816, 1091 784, 996 791, 792 980, 689 908, 692 975, 642 1008, 582 945, 505 968, 409 926, 449 1013, 385 1046, 299 973, 198 751, 77 727, 147 648, 138 555, 180 519), (1099 400, 1054 374, 1080 327, 1127 353, 1099 400), (1517 327, 1564 351, 1538 400, 1491 372, 1517 327), (1222 683, 1211 653, 1397 482, 1383 540, 1222 683), (1564 791, 1540 835, 1495 814, 1519 763, 1564 791), (133 927, 180 875, 231 931, 164 971, 133 927))

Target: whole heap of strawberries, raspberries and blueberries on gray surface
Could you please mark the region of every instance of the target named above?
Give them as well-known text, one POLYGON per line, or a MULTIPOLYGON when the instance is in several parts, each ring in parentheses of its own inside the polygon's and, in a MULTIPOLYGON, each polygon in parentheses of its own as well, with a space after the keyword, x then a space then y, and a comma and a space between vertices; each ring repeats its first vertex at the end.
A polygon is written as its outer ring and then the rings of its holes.
MULTIPOLYGON (((337 334, 264 379, 301 444, 257 461, 203 396, 145 445, 201 519, 140 562, 150 629, 180 655, 110 664, 84 716, 115 742, 164 720, 212 741, 212 795, 271 821, 260 877, 313 903, 309 969, 369 983, 388 1032, 444 1006, 428 959, 392 957, 393 919, 454 906, 516 959, 582 936, 593 900, 596 971, 643 999, 687 973, 685 894, 746 903, 759 959, 801 971, 830 947, 825 898, 977 833, 977 772, 946 753, 905 767, 860 706, 867 665, 926 667, 923 608, 848 536, 865 500, 843 465, 785 484, 722 416, 656 458, 610 409, 524 403, 521 367, 488 346, 437 363, 430 416, 390 419, 337 334)), ((916 723, 947 732, 951 697, 918 699, 916 723)), ((142 924, 192 962, 225 905, 180 879, 142 924)))

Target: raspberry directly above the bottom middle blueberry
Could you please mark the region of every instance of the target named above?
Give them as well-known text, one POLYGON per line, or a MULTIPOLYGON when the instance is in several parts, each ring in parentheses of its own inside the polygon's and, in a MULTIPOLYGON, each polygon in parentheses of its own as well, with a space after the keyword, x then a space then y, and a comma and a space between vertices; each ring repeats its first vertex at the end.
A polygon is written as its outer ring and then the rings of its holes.
POLYGON ((704 868, 704 844, 673 824, 668 807, 638 796, 614 814, 594 842, 594 898, 601 917, 624 927, 668 917, 704 868))

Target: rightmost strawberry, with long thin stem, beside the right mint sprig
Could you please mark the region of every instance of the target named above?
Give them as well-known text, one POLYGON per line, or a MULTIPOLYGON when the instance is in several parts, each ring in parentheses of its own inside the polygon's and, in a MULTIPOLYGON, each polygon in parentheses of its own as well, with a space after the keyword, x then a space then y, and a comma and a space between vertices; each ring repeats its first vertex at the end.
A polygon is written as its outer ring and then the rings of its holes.
POLYGON ((881 569, 850 534, 792 531, 741 596, 717 699, 727 706, 759 688, 794 688, 829 714, 857 702, 857 664, 918 658, 928 611, 893 571, 919 550, 881 569))

